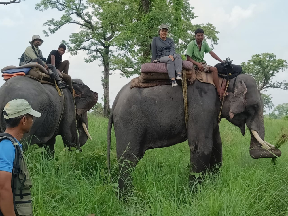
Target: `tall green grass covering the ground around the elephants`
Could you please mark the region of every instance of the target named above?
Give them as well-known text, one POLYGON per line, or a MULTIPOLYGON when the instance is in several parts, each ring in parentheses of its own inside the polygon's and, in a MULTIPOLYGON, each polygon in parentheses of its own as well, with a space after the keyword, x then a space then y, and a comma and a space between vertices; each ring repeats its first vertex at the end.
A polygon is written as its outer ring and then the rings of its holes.
MULTIPOLYGON (((115 196, 115 183, 107 174, 107 122, 89 116, 93 138, 82 153, 63 151, 56 141, 56 158, 43 159, 42 149, 26 152, 33 179, 35 215, 288 215, 287 145, 276 169, 270 158, 249 155, 250 133, 222 120, 223 166, 207 174, 201 185, 188 183, 190 153, 187 142, 145 153, 133 173, 134 189, 127 200, 115 196), (194 187, 194 188, 193 188, 194 187), (196 189, 196 190, 195 190, 196 189)), ((266 141, 274 144, 287 120, 265 119, 266 141)), ((115 135, 112 132, 112 174, 117 174, 115 135)))

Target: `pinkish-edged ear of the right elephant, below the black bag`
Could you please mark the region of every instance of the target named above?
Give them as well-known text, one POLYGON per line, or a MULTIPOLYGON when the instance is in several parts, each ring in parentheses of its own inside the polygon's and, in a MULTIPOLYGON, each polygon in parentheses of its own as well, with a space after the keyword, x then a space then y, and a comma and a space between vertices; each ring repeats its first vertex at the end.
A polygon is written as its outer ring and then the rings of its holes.
POLYGON ((243 80, 235 86, 233 97, 230 102, 229 117, 232 119, 234 115, 242 113, 245 111, 245 94, 247 93, 247 88, 243 80))

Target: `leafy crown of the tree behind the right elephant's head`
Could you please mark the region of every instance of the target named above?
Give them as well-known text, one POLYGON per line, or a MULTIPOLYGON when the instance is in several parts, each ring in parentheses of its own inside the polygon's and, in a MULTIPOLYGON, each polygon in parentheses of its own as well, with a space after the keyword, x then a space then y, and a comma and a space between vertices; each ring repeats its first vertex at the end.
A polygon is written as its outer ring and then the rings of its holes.
POLYGON ((243 73, 249 74, 256 80, 258 91, 268 90, 269 88, 281 88, 288 90, 286 80, 282 82, 273 82, 280 71, 287 69, 287 62, 283 59, 277 59, 273 53, 262 53, 252 55, 246 63, 242 62, 243 73))

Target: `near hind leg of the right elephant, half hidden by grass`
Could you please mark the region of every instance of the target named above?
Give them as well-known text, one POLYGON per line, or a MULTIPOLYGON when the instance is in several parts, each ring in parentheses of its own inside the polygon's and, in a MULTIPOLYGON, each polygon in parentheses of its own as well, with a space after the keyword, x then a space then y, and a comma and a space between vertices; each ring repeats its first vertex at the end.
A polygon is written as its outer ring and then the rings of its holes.
POLYGON ((118 146, 121 146, 116 148, 119 166, 119 196, 125 196, 132 186, 133 179, 131 173, 138 161, 143 158, 144 152, 140 151, 139 143, 135 143, 134 145, 129 143, 127 146, 117 145, 117 147, 118 146))

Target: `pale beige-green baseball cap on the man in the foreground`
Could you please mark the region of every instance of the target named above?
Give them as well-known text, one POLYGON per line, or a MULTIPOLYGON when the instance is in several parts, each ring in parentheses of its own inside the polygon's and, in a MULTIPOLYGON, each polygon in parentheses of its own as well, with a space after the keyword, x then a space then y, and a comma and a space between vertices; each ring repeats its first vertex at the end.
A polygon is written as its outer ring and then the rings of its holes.
POLYGON ((3 113, 5 119, 16 118, 25 114, 30 114, 37 118, 41 116, 41 113, 33 110, 28 101, 24 99, 9 101, 3 111, 7 113, 7 115, 3 113))

